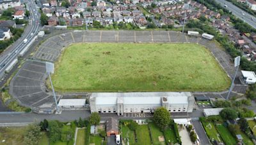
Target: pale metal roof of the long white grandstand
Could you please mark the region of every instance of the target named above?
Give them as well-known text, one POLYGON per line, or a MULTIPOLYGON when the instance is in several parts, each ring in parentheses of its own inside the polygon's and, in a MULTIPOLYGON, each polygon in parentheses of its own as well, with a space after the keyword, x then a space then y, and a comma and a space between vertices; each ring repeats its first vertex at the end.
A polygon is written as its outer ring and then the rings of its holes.
POLYGON ((129 92, 129 93, 92 93, 96 104, 116 104, 122 97, 124 104, 161 104, 161 97, 167 97, 169 104, 188 104, 190 92, 129 92))

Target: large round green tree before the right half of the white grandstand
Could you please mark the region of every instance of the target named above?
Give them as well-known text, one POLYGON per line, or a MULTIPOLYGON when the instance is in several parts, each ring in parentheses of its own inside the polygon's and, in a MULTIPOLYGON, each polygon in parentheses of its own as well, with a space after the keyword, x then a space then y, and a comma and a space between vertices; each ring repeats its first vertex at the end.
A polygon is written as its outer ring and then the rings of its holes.
POLYGON ((164 129, 171 122, 170 113, 164 107, 158 107, 154 112, 154 121, 159 128, 164 129))

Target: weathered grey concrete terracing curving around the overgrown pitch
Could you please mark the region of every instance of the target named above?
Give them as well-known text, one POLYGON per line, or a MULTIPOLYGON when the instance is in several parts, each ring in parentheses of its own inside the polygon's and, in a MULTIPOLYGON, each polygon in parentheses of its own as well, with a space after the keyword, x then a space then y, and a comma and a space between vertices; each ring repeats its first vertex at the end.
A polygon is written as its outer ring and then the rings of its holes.
MULTIPOLYGON (((230 56, 219 48, 214 41, 200 37, 189 37, 176 31, 69 31, 52 36, 38 46, 32 59, 27 60, 17 72, 10 84, 10 93, 22 105, 38 107, 46 102, 53 102, 51 93, 45 91, 45 61, 54 62, 63 49, 72 43, 199 43, 208 48, 228 76, 234 76, 234 64, 230 56)), ((241 75, 240 73, 238 76, 241 75)), ((244 92, 243 85, 235 86, 244 92)), ((196 92, 195 95, 225 98, 227 92, 196 92), (223 94, 223 95, 221 95, 223 94)))

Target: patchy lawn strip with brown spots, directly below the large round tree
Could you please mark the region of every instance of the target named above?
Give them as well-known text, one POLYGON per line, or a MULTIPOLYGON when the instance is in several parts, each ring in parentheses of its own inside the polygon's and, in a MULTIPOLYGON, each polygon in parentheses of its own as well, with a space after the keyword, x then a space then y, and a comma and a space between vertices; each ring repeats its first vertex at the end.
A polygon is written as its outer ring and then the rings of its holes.
POLYGON ((156 144, 156 145, 165 144, 164 141, 161 141, 161 142, 159 141, 159 137, 164 136, 163 132, 161 132, 159 127, 157 127, 155 123, 149 123, 149 127, 150 127, 150 133, 152 135, 153 144, 156 144))

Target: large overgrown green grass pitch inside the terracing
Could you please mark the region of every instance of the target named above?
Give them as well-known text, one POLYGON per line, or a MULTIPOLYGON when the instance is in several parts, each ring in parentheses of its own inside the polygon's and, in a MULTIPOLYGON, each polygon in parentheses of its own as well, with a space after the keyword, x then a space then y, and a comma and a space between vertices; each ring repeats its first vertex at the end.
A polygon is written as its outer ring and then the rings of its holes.
POLYGON ((196 44, 79 43, 56 62, 59 92, 221 91, 230 79, 196 44))

